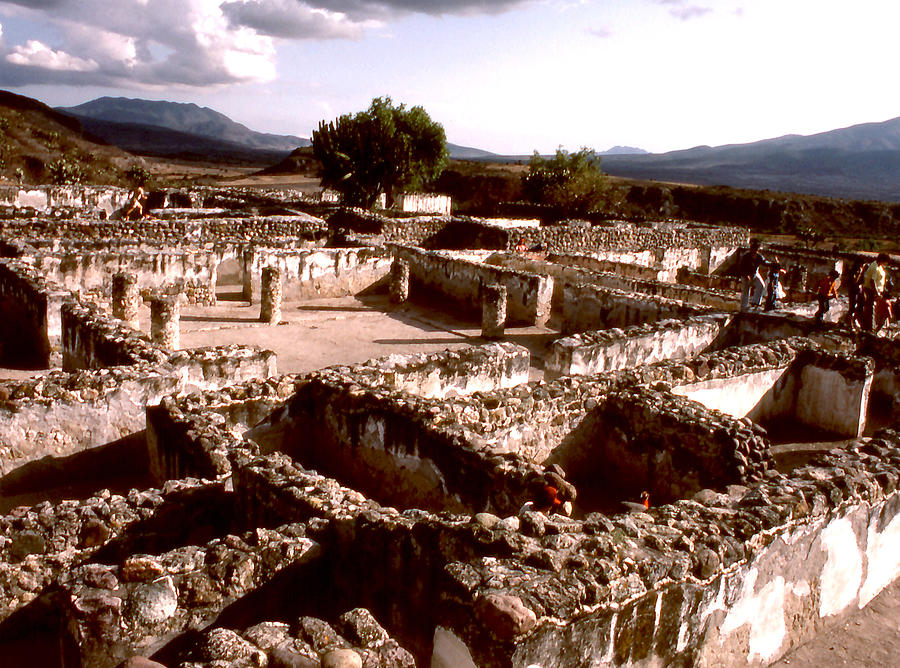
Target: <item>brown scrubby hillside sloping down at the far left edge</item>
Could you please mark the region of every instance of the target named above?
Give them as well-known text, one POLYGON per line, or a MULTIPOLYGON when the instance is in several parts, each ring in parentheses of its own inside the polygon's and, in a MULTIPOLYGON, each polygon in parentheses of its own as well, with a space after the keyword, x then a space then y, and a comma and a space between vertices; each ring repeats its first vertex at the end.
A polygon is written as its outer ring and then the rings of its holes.
POLYGON ((0 91, 0 179, 119 183, 133 156, 86 135, 81 124, 29 97, 0 91))

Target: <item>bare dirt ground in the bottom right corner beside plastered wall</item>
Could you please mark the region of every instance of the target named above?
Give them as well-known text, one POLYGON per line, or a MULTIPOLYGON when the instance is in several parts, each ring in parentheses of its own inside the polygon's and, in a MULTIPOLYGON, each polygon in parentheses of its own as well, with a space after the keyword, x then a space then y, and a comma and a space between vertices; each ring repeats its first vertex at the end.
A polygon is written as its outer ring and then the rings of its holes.
POLYGON ((846 621, 823 631, 773 666, 900 666, 900 581, 846 621))

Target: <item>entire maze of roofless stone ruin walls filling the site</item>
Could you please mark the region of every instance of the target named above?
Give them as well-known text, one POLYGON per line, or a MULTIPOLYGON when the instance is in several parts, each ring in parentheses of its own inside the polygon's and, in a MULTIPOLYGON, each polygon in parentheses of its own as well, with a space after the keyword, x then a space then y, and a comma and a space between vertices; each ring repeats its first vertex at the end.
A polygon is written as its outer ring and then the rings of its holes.
POLYGON ((3 666, 762 666, 900 577, 900 342, 740 312, 746 230, 126 195, 0 192, 3 666), (367 294, 471 345, 181 345, 367 294))

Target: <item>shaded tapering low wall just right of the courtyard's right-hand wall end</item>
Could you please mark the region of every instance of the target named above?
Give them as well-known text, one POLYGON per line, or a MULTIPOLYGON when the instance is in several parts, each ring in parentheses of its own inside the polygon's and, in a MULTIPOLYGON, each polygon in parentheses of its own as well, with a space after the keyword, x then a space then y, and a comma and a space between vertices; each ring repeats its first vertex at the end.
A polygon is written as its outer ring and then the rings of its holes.
POLYGON ((563 288, 565 334, 610 327, 645 325, 672 318, 706 315, 711 309, 643 293, 630 293, 584 283, 563 288))

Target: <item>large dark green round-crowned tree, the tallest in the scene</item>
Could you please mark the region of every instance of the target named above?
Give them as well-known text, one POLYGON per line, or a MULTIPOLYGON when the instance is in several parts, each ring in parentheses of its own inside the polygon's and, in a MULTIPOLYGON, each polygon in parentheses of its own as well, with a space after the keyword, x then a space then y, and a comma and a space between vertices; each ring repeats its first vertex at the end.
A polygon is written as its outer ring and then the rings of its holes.
POLYGON ((420 190, 447 163, 444 128, 422 107, 394 106, 378 97, 366 111, 319 123, 313 153, 322 163, 322 185, 351 206, 372 208, 381 193, 393 204, 400 190, 420 190))

